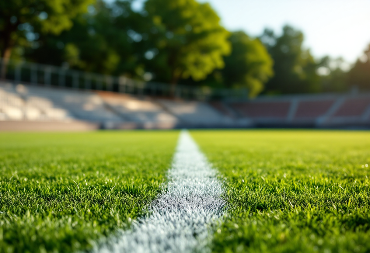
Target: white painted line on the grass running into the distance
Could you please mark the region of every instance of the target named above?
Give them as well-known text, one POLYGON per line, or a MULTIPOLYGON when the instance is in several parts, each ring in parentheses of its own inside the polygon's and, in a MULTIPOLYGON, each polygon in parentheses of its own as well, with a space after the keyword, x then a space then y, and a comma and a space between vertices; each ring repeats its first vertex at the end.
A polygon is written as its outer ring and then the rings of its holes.
POLYGON ((225 206, 216 176, 189 133, 182 131, 168 171, 167 191, 152 203, 151 214, 93 252, 209 252, 210 225, 221 219, 225 206))

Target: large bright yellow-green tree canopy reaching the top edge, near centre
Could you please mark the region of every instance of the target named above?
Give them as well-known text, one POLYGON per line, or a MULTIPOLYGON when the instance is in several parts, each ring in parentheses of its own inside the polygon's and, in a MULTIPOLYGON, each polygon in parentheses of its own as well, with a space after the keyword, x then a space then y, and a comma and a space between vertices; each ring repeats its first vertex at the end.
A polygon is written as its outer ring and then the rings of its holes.
POLYGON ((203 80, 223 68, 230 52, 228 31, 208 3, 195 0, 148 0, 145 11, 152 22, 149 40, 155 57, 148 63, 158 81, 173 87, 180 79, 203 80))

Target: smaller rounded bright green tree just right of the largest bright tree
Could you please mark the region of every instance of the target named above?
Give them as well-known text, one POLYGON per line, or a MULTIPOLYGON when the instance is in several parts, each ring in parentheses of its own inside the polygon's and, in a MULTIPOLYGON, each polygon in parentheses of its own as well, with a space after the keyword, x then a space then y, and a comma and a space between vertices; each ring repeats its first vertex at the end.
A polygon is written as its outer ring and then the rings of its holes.
POLYGON ((273 60, 258 38, 251 39, 242 31, 233 33, 229 41, 232 52, 224 58, 223 82, 226 86, 248 87, 249 96, 255 97, 273 76, 273 60))

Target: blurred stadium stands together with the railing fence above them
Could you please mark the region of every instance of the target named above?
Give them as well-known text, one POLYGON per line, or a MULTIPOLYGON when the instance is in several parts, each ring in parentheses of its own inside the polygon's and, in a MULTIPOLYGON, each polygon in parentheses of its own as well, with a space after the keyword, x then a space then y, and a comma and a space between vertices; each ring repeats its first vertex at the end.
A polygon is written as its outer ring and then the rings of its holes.
POLYGON ((0 84, 3 131, 370 127, 370 92, 260 96, 11 62, 0 84), (67 80, 67 81, 66 81, 67 80))

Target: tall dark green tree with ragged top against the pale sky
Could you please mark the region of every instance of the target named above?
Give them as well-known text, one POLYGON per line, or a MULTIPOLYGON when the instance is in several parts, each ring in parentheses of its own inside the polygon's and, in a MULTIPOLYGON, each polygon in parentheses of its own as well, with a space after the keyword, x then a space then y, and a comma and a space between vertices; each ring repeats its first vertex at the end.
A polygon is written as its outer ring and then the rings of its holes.
POLYGON ((302 48, 302 32, 285 26, 282 36, 277 37, 266 29, 260 39, 274 60, 275 76, 266 83, 265 93, 320 91, 317 64, 310 51, 302 48))

